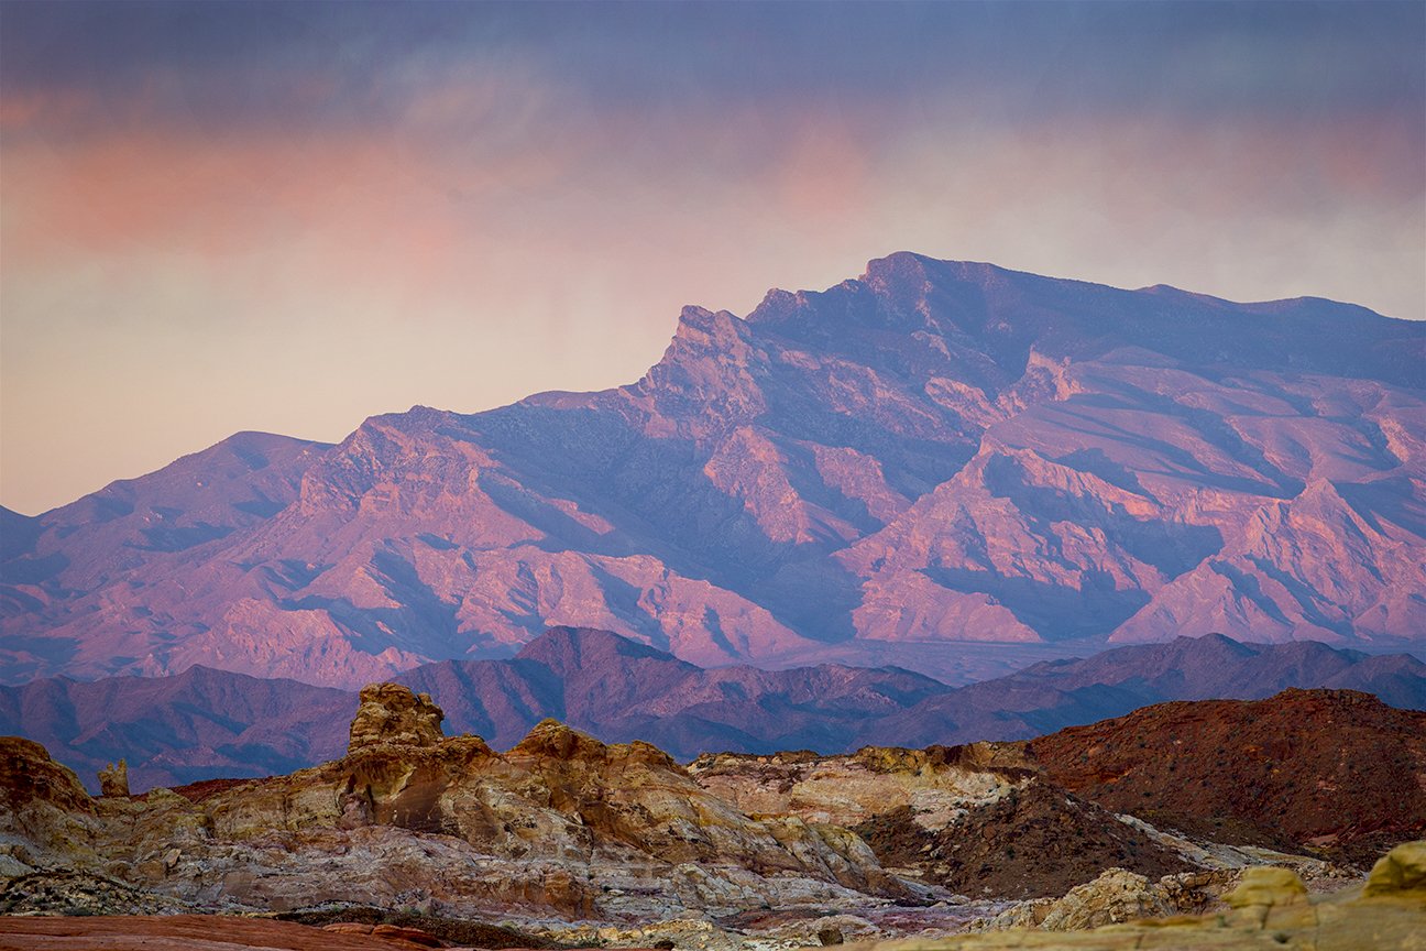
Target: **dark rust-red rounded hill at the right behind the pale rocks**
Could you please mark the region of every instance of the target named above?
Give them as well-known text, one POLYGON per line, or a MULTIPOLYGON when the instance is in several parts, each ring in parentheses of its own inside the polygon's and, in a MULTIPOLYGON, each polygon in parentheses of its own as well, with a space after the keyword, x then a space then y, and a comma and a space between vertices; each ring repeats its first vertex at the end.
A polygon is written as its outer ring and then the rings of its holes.
POLYGON ((1426 711, 1352 690, 1162 703, 1027 749, 1078 796, 1216 841, 1360 861, 1426 833, 1426 711))

